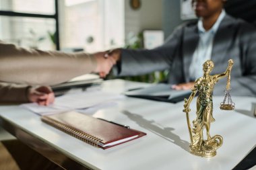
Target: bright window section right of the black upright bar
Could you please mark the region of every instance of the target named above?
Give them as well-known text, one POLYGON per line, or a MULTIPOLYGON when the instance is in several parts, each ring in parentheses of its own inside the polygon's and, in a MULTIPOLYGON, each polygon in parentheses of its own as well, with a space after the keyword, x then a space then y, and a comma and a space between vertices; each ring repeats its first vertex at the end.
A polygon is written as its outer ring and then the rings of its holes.
POLYGON ((65 0, 60 16, 61 48, 95 52, 124 45, 122 0, 65 0))

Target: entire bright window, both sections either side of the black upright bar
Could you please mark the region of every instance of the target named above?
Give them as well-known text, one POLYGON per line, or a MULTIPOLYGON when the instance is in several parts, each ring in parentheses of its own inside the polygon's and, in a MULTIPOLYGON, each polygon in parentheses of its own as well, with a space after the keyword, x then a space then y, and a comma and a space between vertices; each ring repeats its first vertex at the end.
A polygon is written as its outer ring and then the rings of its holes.
POLYGON ((125 0, 0 0, 0 39, 42 50, 122 47, 124 8, 125 0))

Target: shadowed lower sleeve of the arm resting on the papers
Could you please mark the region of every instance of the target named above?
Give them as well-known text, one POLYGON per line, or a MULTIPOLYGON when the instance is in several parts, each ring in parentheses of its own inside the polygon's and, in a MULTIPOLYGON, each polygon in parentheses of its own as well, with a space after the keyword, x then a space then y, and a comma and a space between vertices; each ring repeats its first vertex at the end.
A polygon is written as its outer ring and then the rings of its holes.
POLYGON ((0 83, 0 103, 26 103, 28 101, 28 85, 0 83))

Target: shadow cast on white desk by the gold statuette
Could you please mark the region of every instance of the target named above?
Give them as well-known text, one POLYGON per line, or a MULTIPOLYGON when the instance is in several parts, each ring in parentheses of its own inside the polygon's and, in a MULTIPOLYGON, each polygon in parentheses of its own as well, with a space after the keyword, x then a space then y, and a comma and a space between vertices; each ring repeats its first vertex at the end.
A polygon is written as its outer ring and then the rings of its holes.
POLYGON ((162 126, 156 126, 155 125, 156 122, 146 120, 142 116, 138 114, 132 114, 127 110, 123 110, 122 113, 125 114, 130 120, 133 120, 134 122, 136 122, 142 128, 146 128, 147 130, 150 130, 150 132, 153 132, 154 134, 160 136, 161 138, 164 138, 165 140, 168 140, 173 144, 180 146, 185 151, 189 152, 189 142, 185 140, 181 140, 181 138, 177 134, 174 134, 172 132, 173 130, 175 130, 174 128, 171 128, 171 127, 164 128, 162 126))

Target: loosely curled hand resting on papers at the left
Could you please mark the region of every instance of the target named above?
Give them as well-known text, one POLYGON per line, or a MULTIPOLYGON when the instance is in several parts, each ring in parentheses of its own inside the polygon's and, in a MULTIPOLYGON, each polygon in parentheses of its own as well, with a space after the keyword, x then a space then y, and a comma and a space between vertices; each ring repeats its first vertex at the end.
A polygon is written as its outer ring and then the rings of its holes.
POLYGON ((38 105, 49 105, 55 100, 55 95, 48 86, 31 87, 28 89, 28 100, 38 105))

